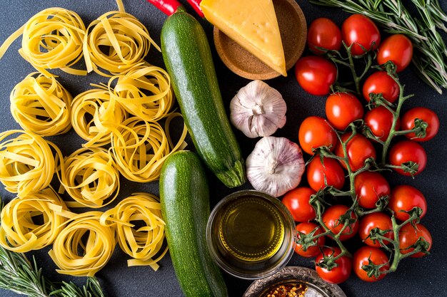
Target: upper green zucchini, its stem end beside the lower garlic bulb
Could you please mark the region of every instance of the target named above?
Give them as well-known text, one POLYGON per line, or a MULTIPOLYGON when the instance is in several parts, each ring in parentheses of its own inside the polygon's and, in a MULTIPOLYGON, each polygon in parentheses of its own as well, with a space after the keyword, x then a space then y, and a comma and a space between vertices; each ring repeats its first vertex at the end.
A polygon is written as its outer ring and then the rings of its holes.
POLYGON ((225 113, 204 29, 179 8, 161 29, 161 50, 191 139, 227 187, 246 182, 241 149, 225 113))

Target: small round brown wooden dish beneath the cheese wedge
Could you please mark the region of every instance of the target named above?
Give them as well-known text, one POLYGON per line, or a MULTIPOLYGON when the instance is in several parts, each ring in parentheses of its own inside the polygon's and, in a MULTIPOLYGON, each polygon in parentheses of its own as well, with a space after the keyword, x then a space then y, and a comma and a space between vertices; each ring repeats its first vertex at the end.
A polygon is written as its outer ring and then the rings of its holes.
MULTIPOLYGON (((306 46, 307 24, 295 0, 273 0, 279 31, 286 57, 287 71, 295 65, 306 46)), ((261 60, 248 53, 218 28, 214 27, 214 45, 224 64, 237 75, 251 80, 276 78, 277 73, 261 60)))

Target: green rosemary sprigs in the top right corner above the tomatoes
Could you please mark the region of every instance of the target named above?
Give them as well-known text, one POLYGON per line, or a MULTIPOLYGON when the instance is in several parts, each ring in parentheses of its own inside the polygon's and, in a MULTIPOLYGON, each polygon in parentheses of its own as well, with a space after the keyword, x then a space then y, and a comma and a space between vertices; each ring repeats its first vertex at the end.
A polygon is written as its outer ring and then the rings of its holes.
POLYGON ((363 14, 388 33, 411 38, 416 53, 413 66, 418 75, 438 93, 447 88, 447 47, 437 29, 447 32, 447 15, 438 0, 411 0, 420 19, 411 16, 401 0, 309 0, 313 4, 339 7, 351 14, 363 14))

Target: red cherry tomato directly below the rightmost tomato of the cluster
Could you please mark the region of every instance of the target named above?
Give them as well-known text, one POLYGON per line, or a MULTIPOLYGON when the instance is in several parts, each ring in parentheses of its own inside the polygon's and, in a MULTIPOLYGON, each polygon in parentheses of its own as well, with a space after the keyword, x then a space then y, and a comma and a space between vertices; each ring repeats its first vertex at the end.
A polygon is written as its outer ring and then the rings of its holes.
MULTIPOLYGON (((405 162, 413 161, 418 165, 417 171, 413 174, 421 173, 427 165, 426 150, 417 142, 411 140, 403 140, 391 147, 389 153, 390 164, 394 166, 401 166, 405 162)), ((404 171, 401 168, 393 168, 399 174, 411 176, 411 172, 404 171)))

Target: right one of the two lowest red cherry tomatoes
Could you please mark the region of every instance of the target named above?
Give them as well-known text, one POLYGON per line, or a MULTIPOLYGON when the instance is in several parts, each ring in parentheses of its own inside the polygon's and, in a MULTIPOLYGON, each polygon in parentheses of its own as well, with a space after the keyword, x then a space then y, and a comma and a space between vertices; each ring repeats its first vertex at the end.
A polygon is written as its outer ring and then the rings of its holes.
POLYGON ((368 273, 362 268, 363 265, 375 264, 382 265, 379 271, 386 271, 390 268, 388 256, 381 249, 372 246, 362 246, 353 256, 353 271, 362 281, 372 283, 379 281, 386 276, 381 273, 378 277, 368 276, 368 273))

